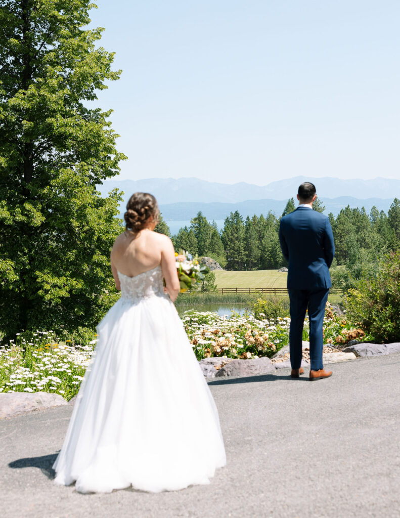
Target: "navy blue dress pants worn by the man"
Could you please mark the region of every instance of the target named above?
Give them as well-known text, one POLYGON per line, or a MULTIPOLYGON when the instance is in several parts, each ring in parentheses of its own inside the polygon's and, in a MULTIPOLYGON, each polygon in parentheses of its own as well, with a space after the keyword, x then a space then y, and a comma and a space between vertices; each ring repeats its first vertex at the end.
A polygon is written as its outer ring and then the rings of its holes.
POLYGON ((292 369, 299 369, 302 364, 303 325, 308 308, 310 325, 310 361, 311 370, 323 369, 322 326, 325 315, 325 305, 329 290, 288 290, 290 298, 290 363, 292 369))

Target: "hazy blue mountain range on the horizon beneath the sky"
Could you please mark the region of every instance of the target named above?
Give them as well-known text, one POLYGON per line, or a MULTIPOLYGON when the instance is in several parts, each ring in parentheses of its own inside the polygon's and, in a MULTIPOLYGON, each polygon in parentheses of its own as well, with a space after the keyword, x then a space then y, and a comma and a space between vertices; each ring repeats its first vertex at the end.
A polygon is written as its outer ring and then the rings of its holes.
POLYGON ((325 205, 325 213, 335 216, 342 208, 364 207, 367 212, 375 205, 388 211, 393 199, 400 198, 400 180, 375 178, 374 180, 341 180, 338 178, 306 178, 298 176, 277 180, 265 186, 240 182, 214 183, 198 178, 150 178, 147 180, 106 180, 98 186, 102 195, 112 189, 124 191, 124 212, 127 199, 136 191, 150 192, 158 200, 167 221, 190 220, 201 210, 208 220, 224 219, 238 210, 246 217, 266 214, 272 210, 280 215, 289 198, 296 200, 298 185, 304 181, 316 185, 317 194, 325 205))

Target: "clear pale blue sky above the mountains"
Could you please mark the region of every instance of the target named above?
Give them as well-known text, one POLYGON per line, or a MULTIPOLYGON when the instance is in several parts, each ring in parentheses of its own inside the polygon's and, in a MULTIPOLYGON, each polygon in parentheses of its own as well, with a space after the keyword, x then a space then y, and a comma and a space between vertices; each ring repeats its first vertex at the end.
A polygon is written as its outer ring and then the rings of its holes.
POLYGON ((400 178, 398 0, 97 0, 120 179, 400 178))

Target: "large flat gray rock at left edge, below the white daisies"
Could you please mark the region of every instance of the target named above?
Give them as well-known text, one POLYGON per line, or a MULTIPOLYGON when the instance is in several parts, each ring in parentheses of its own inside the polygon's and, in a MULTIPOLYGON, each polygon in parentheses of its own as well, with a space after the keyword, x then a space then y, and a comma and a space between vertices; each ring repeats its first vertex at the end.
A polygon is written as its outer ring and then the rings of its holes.
POLYGON ((68 405, 67 401, 59 394, 47 392, 6 392, 0 394, 0 419, 10 418, 14 415, 32 412, 32 410, 44 410, 50 407, 68 405))

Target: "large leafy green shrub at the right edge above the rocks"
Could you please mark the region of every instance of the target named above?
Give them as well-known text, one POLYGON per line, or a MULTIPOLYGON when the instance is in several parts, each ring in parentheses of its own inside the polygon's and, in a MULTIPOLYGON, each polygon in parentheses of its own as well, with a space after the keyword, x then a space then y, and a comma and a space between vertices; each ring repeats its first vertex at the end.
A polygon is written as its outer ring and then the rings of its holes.
POLYGON ((348 318, 378 341, 400 340, 400 252, 379 262, 376 278, 363 277, 346 295, 348 318))

